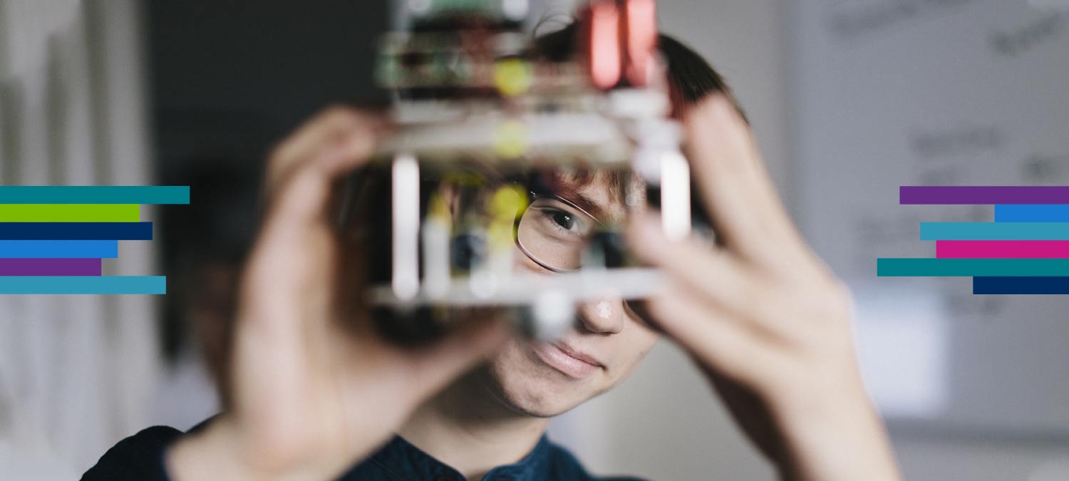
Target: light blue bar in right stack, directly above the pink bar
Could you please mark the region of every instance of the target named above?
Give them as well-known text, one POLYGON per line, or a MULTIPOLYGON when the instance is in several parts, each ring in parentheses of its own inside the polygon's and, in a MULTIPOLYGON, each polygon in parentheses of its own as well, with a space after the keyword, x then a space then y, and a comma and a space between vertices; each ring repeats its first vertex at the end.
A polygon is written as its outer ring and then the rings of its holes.
POLYGON ((920 222, 920 241, 1069 241, 1069 222, 920 222))

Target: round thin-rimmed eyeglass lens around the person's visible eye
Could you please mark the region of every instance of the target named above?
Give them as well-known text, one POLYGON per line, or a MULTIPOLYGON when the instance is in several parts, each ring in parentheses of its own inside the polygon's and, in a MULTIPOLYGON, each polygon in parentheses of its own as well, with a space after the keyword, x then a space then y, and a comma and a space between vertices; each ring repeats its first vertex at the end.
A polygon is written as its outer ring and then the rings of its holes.
POLYGON ((555 273, 582 267, 584 249, 605 224, 562 197, 533 191, 528 195, 530 203, 516 228, 516 247, 555 273))

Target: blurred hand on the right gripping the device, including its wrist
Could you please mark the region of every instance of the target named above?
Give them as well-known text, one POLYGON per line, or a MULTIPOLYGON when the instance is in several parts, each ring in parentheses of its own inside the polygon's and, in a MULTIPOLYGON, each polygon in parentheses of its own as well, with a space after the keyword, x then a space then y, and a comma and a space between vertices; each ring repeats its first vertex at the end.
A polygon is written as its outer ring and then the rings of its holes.
POLYGON ((633 251, 668 278, 648 299, 653 321, 784 478, 899 479, 862 384, 849 291, 791 223, 733 105, 715 95, 684 124, 723 246, 670 242, 652 215, 630 226, 633 251))

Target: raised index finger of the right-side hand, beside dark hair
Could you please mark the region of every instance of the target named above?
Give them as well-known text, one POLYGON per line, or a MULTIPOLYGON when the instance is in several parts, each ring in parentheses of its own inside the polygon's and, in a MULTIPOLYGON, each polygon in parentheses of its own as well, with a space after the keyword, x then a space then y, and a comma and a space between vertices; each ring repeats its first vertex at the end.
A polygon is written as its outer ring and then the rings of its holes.
POLYGON ((734 106, 714 95, 693 108, 684 128, 701 198, 728 248, 758 264, 796 260, 801 236, 734 106))

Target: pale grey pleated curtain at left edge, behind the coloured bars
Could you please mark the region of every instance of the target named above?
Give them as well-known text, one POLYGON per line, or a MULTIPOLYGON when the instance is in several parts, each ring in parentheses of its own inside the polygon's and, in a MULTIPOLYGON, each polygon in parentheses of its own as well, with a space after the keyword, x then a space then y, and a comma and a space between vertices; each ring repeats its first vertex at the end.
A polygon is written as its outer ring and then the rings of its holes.
MULTIPOLYGON (((135 0, 0 0, 0 184, 151 183, 139 27, 135 0)), ((151 243, 105 269, 151 273, 151 243)), ((0 296, 0 479, 76 479, 145 426, 154 308, 0 296)))

